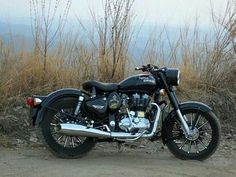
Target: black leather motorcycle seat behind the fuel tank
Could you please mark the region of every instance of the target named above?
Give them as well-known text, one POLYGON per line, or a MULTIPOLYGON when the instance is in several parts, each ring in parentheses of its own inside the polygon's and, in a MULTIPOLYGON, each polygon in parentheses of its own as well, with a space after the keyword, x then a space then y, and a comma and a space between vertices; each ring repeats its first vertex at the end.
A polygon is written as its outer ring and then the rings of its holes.
POLYGON ((84 90, 90 90, 92 87, 95 87, 96 90, 110 92, 118 89, 118 84, 115 83, 103 83, 95 80, 86 81, 83 83, 84 90))

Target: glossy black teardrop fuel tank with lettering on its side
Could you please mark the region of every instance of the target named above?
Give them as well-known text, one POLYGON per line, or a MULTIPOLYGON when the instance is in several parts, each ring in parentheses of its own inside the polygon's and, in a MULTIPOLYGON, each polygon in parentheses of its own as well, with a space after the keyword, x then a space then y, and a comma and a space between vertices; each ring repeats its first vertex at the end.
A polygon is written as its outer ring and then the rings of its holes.
POLYGON ((151 92, 156 88, 156 80, 152 75, 139 74, 128 77, 119 83, 121 91, 147 91, 151 92))

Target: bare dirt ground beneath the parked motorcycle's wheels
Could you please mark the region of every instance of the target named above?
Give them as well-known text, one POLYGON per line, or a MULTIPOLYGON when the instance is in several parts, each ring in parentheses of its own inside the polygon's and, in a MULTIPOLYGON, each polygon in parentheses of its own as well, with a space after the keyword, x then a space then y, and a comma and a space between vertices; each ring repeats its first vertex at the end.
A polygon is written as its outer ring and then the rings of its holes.
MULTIPOLYGON (((160 141, 128 143, 120 150, 116 143, 99 143, 80 159, 60 159, 45 149, 35 131, 29 128, 28 110, 22 106, 13 110, 15 113, 8 117, 0 115, 2 129, 14 137, 8 140, 0 136, 0 177, 236 176, 234 131, 223 134, 219 149, 203 162, 179 160, 160 141), (20 119, 24 121, 18 121, 20 119), (17 148, 3 148, 1 144, 17 148)), ((230 132, 230 128, 227 130, 230 132)))

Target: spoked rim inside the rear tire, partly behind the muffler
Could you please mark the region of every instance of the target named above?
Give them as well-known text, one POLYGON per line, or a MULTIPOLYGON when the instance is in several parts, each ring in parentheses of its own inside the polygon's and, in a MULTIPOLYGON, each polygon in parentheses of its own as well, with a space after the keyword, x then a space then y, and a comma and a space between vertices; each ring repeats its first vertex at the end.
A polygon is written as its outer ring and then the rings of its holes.
POLYGON ((86 140, 86 137, 68 136, 57 131, 56 127, 60 123, 76 123, 66 115, 72 115, 73 112, 73 108, 61 109, 60 111, 56 112, 56 114, 54 114, 50 119, 50 133, 52 135, 52 138, 58 145, 64 148, 76 148, 79 145, 83 144, 86 140))

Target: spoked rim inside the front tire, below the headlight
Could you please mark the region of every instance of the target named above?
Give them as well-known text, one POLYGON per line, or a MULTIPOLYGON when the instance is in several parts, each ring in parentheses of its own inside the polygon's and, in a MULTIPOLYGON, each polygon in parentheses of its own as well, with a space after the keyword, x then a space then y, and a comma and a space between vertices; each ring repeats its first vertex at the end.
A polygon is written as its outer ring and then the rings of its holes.
POLYGON ((184 115, 192 136, 185 137, 181 123, 175 121, 172 125, 172 139, 179 150, 188 154, 199 154, 205 151, 212 141, 212 128, 204 115, 199 113, 187 113, 184 115))

